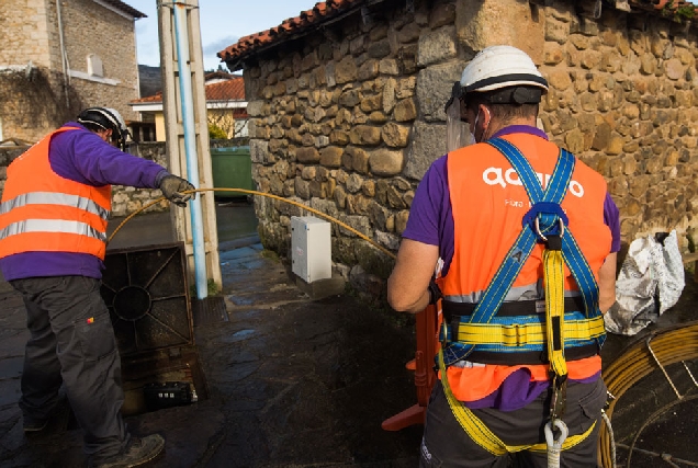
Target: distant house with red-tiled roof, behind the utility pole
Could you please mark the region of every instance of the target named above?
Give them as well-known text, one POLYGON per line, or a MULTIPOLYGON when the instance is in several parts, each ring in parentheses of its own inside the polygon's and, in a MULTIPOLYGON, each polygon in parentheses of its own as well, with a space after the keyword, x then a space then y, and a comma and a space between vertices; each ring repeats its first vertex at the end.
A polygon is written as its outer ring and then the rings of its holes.
MULTIPOLYGON (((205 81, 209 125, 222 129, 227 138, 248 136, 249 117, 243 77, 214 71, 206 75, 205 81)), ((162 93, 134 100, 131 107, 143 115, 143 121, 154 121, 156 139, 165 141, 162 93)))

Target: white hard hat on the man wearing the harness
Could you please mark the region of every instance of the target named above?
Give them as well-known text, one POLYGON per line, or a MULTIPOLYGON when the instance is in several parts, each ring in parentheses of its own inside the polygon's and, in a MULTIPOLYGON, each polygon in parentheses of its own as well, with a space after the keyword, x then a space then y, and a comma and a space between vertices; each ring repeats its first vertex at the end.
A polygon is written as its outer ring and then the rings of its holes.
POLYGON ((462 93, 494 91, 510 87, 537 87, 548 91, 548 81, 524 50, 511 46, 482 49, 461 76, 462 93))

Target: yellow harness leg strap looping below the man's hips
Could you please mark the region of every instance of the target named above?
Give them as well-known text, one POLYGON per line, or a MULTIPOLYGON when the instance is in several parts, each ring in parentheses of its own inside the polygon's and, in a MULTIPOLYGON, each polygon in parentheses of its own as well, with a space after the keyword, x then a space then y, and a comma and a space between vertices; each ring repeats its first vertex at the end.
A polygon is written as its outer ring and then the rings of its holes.
MULTIPOLYGON (((446 364, 443 363, 443 351, 439 350, 438 354, 439 361, 439 369, 441 370, 441 385, 443 385, 443 392, 446 393, 446 398, 449 402, 449 407, 451 407, 451 411, 453 412, 453 416, 459 422, 461 427, 465 431, 465 433, 473 440, 477 445, 480 445, 485 450, 489 452, 492 455, 502 456, 507 453, 516 453, 521 450, 532 450, 532 452, 547 452, 548 446, 545 443, 532 444, 532 445, 506 445, 499 437, 497 437, 475 415, 473 412, 465 407, 463 403, 458 401, 451 391, 451 387, 449 386, 449 379, 446 375, 446 364)), ((565 440, 562 444, 562 449, 567 449, 574 447, 582 441, 584 441, 596 426, 596 422, 592 424, 592 426, 586 430, 583 434, 571 435, 565 440)))

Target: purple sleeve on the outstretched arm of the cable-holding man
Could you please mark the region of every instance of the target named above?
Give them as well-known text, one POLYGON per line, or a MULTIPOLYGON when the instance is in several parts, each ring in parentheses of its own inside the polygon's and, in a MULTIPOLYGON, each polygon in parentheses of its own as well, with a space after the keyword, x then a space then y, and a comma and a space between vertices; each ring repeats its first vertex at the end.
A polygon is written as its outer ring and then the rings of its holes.
POLYGON ((157 189, 156 179, 166 170, 153 161, 120 151, 87 129, 56 135, 48 159, 60 176, 93 186, 157 189))

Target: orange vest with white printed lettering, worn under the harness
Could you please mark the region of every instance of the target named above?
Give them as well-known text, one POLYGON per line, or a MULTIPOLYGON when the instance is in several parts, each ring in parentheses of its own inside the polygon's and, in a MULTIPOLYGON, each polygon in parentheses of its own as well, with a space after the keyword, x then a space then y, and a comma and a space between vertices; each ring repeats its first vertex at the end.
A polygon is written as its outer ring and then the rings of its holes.
MULTIPOLYGON (((529 134, 513 134, 503 139, 515 145, 530 162, 545 189, 560 149, 556 145, 529 134)), ((529 197, 516 171, 494 147, 480 144, 450 152, 447 160, 448 184, 454 224, 454 251, 446 276, 438 284, 446 301, 480 300, 503 263, 509 248, 521 232, 521 220, 530 209, 529 197)), ((610 229, 604 222, 606 182, 604 178, 577 160, 567 194, 561 203, 582 253, 596 281, 604 260, 610 252, 610 229)), ((505 300, 538 298, 543 278, 544 247, 536 244, 515 279, 505 300)), ((566 295, 577 289, 565 266, 566 295)), ((476 358, 473 362, 477 363, 476 358)), ((571 379, 584 379, 600 370, 598 355, 570 361, 571 379)), ((495 391, 519 368, 527 368, 531 380, 549 380, 548 364, 449 366, 447 375, 455 398, 475 401, 495 391)))

